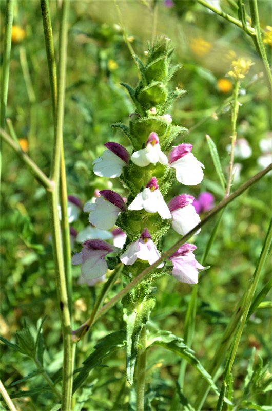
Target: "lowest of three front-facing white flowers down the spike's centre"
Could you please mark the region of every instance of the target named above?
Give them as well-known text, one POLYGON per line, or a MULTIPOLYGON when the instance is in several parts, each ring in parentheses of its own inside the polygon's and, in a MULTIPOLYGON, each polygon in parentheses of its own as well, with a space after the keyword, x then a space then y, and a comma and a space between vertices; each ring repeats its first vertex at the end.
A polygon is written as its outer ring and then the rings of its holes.
MULTIPOLYGON (((139 240, 131 242, 124 254, 120 256, 120 261, 127 266, 134 264, 137 258, 148 261, 151 265, 160 258, 160 253, 157 250, 154 242, 151 240, 151 235, 145 228, 139 240)), ((159 264, 157 268, 162 268, 163 263, 159 264)))

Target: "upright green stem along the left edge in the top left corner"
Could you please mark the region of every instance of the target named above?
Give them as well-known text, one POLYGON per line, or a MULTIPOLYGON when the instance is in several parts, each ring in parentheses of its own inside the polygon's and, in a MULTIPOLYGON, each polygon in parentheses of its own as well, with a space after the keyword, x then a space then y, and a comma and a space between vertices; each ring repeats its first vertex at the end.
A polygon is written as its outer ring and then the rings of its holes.
MULTIPOLYGON (((8 100, 8 85, 9 85, 9 66, 10 66, 10 50, 11 50, 11 33, 13 20, 13 0, 6 2, 5 16, 5 34, 4 34, 4 52, 3 52, 3 70, 2 70, 2 85, 0 91, 0 127, 5 127, 6 109, 8 100)), ((0 177, 2 172, 2 142, 0 142, 0 177)))

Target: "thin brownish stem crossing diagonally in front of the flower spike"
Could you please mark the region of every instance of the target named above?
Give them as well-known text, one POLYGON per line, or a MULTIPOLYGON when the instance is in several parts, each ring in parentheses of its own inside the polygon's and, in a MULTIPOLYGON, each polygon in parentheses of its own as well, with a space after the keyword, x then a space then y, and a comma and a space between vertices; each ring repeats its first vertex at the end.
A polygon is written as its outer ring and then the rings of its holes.
MULTIPOLYGON (((166 258, 170 257, 174 251, 176 251, 187 239, 189 239, 197 230, 199 230, 202 226, 204 226, 213 216, 215 216, 220 210, 223 210, 227 204, 233 201, 236 197, 240 196, 246 189, 250 187, 250 185, 256 183, 260 178, 262 178, 265 174, 267 174, 270 170, 272 170, 272 164, 268 165, 266 169, 260 171, 255 176, 251 177, 247 180, 244 184, 242 184, 234 193, 230 194, 229 197, 224 198, 218 206, 214 207, 209 214, 191 231, 189 231, 186 235, 184 235, 179 241, 177 241, 172 247, 170 247, 167 251, 162 253, 161 257, 153 263, 151 266, 147 267, 144 271, 142 271, 137 277, 133 278, 132 281, 126 285, 118 294, 116 294, 111 300, 102 307, 99 312, 95 315, 95 319, 99 320, 101 316, 106 314, 110 308, 112 308, 121 298, 123 298, 126 294, 129 293, 132 288, 137 286, 143 279, 149 277, 151 272, 156 269, 156 267, 162 263, 166 258)), ((84 334, 83 334, 84 335, 84 334)))

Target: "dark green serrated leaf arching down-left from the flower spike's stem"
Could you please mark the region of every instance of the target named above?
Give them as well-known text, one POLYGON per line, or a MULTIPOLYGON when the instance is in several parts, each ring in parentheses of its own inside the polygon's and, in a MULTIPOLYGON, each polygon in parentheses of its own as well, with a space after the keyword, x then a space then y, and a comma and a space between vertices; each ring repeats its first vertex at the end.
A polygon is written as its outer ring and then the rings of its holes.
MULTIPOLYGON (((90 356, 83 361, 83 367, 80 368, 80 372, 73 382, 73 393, 81 386, 86 380, 89 372, 94 367, 102 365, 103 360, 108 357, 112 352, 126 345, 126 333, 125 331, 112 332, 106 335, 98 344, 95 345, 94 351, 90 356)), ((76 370, 75 370, 76 372, 76 370)))

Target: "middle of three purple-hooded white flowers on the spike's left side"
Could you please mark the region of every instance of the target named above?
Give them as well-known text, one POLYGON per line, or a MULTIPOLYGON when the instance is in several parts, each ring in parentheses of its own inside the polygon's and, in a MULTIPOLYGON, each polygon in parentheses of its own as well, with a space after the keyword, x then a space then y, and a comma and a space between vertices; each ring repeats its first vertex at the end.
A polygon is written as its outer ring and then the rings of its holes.
POLYGON ((126 211, 123 198, 112 190, 101 190, 95 203, 86 203, 83 211, 90 212, 90 223, 102 230, 111 229, 119 215, 126 211))

